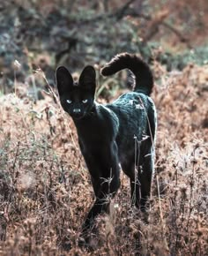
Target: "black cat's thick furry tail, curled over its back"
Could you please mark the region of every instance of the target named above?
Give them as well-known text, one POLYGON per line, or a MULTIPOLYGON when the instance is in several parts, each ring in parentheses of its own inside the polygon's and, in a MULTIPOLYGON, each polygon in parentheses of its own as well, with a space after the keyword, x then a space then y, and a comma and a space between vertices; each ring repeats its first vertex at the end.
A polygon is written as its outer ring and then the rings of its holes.
POLYGON ((153 75, 148 64, 139 56, 129 53, 116 55, 100 71, 103 76, 110 76, 123 69, 129 69, 135 76, 134 91, 146 95, 152 93, 153 75))

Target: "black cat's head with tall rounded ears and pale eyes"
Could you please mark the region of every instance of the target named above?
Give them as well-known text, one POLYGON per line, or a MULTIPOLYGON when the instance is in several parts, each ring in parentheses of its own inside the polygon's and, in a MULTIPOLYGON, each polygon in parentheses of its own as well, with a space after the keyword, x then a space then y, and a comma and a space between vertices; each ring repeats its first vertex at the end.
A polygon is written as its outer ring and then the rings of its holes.
POLYGON ((64 66, 60 66, 56 70, 56 83, 62 107, 72 118, 80 119, 90 113, 96 87, 93 66, 85 66, 78 82, 64 66))

